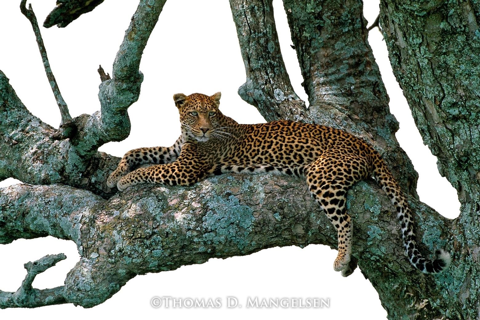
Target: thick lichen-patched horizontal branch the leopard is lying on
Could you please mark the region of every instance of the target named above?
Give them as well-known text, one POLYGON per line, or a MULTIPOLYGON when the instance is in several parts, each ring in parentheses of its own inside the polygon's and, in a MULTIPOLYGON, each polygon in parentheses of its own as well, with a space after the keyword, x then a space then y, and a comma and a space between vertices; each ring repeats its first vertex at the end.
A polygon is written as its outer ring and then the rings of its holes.
MULTIPOLYGON (((411 201, 416 212, 425 213, 416 216, 419 237, 430 239, 422 249, 433 252, 451 243, 448 236, 429 236, 448 235, 451 221, 411 201)), ((218 176, 190 188, 142 185, 108 200, 63 185, 16 185, 0 189, 0 203, 2 243, 47 234, 77 243, 81 259, 67 275, 64 297, 66 303, 84 307, 102 303, 136 274, 275 246, 320 243, 336 248, 337 243, 334 228, 311 200, 304 181, 266 174, 218 176)), ((382 273, 390 279, 374 284, 382 298, 393 301, 425 287, 426 295, 445 290, 449 271, 425 277, 412 270, 395 209, 374 182, 355 185, 348 208, 360 269, 367 277, 382 273), (416 285, 406 286, 406 281, 416 285)))

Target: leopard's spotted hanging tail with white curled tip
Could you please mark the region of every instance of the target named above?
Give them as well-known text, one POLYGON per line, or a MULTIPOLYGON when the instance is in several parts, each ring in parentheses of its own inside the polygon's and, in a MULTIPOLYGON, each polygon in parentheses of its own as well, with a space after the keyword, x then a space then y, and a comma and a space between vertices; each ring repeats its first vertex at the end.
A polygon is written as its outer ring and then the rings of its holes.
POLYGON ((396 207, 397 218, 402 226, 403 243, 410 263, 422 273, 444 271, 450 265, 450 254, 440 249, 436 251, 435 260, 422 257, 417 249, 413 214, 408 207, 407 198, 380 155, 373 161, 373 175, 396 207))

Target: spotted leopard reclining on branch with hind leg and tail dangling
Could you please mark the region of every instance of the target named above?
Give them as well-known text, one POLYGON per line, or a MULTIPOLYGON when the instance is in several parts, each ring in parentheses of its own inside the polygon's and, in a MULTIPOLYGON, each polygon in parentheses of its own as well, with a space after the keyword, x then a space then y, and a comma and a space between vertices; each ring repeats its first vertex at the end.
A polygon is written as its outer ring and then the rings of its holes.
MULTIPOLYGON (((170 147, 145 147, 127 152, 107 179, 123 191, 141 183, 192 186, 225 173, 272 173, 304 178, 337 233, 334 270, 351 274, 352 218, 347 192, 360 180, 374 178, 396 208, 403 246, 410 264, 422 273, 440 273, 450 254, 436 250, 423 258, 417 249, 414 216, 407 197, 380 153, 347 131, 319 124, 276 120, 239 124, 220 110, 221 93, 175 94, 181 135, 170 147), (153 164, 138 167, 143 164, 153 164), (136 168, 136 169, 134 169, 136 168)), ((354 260, 352 260, 354 261, 354 260)))

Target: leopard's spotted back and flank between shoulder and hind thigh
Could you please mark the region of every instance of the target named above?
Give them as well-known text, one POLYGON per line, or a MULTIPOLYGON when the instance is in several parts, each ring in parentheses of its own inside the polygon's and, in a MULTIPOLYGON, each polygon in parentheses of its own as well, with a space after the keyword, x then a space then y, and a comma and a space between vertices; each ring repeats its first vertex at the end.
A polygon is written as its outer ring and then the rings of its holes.
MULTIPOLYGON (((316 124, 278 120, 260 124, 231 124, 235 135, 215 142, 215 173, 272 172, 303 176, 312 163, 325 154, 354 154, 370 168, 376 151, 363 140, 345 132, 316 124)), ((213 144, 213 143, 212 143, 213 144)))

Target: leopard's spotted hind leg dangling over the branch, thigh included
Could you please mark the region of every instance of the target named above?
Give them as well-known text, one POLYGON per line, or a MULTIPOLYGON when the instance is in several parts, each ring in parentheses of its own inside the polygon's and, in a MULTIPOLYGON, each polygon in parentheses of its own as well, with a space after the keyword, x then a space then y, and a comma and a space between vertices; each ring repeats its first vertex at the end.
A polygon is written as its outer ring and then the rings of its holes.
POLYGON ((368 162, 352 154, 324 154, 307 169, 307 183, 313 198, 334 225, 338 237, 338 255, 334 270, 343 276, 353 272, 349 263, 352 251, 352 219, 347 213, 348 189, 357 181, 368 177, 368 162))

